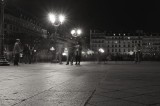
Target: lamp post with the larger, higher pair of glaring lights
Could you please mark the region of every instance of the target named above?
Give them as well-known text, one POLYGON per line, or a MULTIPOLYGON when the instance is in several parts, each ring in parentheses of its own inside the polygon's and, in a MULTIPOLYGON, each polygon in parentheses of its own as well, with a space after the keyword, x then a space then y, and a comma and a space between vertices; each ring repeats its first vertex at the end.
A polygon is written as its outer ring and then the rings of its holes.
MULTIPOLYGON (((65 21, 65 16, 62 14, 53 14, 53 13, 49 13, 48 14, 48 18, 49 21, 51 22, 51 24, 54 26, 55 28, 55 33, 54 33, 54 42, 55 42, 55 60, 53 60, 53 62, 57 62, 57 29, 60 25, 63 24, 63 22, 65 21)), ((53 37, 52 37, 53 39, 53 37)))

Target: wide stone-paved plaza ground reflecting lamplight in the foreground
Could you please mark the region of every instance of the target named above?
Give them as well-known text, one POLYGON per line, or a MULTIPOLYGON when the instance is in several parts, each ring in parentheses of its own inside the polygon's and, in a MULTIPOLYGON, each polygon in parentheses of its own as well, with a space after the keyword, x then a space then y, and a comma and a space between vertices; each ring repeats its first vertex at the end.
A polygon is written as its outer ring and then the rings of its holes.
POLYGON ((0 66, 0 106, 160 106, 160 63, 0 66))

